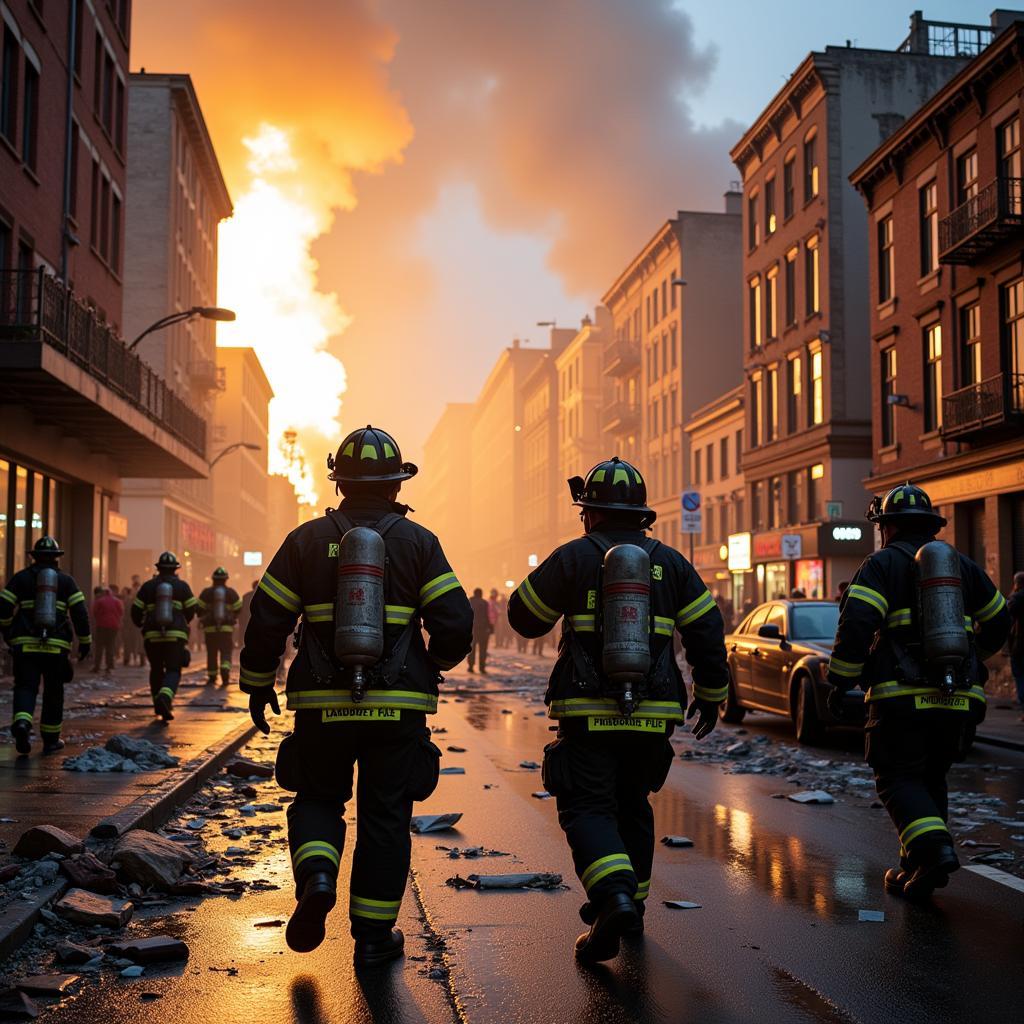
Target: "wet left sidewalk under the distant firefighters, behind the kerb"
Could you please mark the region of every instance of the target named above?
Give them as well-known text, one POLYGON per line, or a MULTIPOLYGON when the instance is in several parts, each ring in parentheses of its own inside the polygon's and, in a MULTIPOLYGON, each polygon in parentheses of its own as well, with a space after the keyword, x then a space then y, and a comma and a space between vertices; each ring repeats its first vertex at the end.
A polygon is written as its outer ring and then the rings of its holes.
MULTIPOLYGON (((194 662, 195 665, 195 662, 194 662)), ((153 715, 147 668, 119 668, 112 676, 93 675, 76 664, 65 692, 65 750, 43 757, 36 734, 32 754, 18 758, 7 726, 11 682, 0 681, 0 866, 10 861, 18 837, 32 825, 53 824, 85 839, 100 819, 122 810, 202 760, 245 721, 246 701, 237 682, 205 685, 205 669, 185 670, 174 703, 174 721, 159 724, 153 715), (63 760, 89 746, 102 746, 115 733, 169 744, 176 768, 139 774, 65 771, 63 760)))

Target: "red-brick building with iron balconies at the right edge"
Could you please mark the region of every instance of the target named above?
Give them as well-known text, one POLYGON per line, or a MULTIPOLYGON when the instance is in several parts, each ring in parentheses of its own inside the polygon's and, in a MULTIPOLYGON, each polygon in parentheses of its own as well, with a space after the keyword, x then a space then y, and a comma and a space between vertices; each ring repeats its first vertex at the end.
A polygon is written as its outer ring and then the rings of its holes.
POLYGON ((1024 22, 996 13, 994 41, 851 180, 868 211, 868 486, 924 486, 944 536, 1009 590, 1024 569, 1024 22))

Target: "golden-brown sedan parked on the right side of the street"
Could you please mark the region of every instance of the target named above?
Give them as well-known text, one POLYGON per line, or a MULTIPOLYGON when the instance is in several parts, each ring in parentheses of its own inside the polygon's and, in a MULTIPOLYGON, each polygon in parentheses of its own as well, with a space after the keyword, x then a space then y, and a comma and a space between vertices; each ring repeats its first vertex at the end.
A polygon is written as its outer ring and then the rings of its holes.
MULTIPOLYGON (((839 721, 828 711, 826 679, 839 621, 835 601, 767 601, 725 638, 729 696, 726 722, 741 722, 748 710, 788 715, 802 743, 819 741, 839 721)), ((864 694, 850 690, 844 725, 863 724, 864 694)))

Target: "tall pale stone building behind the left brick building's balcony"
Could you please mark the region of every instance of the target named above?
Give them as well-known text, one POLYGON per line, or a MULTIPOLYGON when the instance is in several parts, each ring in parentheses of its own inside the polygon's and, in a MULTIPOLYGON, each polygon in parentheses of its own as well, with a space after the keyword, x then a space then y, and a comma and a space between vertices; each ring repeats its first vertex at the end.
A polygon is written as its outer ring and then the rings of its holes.
MULTIPOLYGON (((134 338, 170 313, 216 305, 217 226, 231 202, 188 76, 132 75, 130 93, 124 319, 134 338)), ((212 421, 222 380, 211 321, 194 316, 156 331, 138 351, 212 421)), ((177 554, 186 579, 213 570, 219 553, 209 476, 126 480, 123 506, 132 571, 165 549, 177 554)))

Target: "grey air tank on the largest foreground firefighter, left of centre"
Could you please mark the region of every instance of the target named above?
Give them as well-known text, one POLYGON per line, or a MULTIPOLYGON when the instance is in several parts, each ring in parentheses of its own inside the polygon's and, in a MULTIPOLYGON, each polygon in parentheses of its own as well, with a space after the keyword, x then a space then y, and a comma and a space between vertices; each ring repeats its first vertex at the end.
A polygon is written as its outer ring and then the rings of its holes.
POLYGON ((352 670, 352 702, 367 692, 365 670, 384 654, 384 539, 353 526, 341 539, 334 603, 334 653, 352 670))

